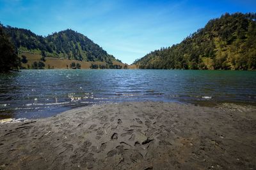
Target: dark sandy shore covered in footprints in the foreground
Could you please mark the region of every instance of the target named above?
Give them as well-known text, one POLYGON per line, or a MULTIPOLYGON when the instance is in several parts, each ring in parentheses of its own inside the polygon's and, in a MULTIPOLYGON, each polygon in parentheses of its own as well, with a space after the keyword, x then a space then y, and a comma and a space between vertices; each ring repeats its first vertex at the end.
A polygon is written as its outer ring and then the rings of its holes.
POLYGON ((256 109, 103 104, 0 124, 0 169, 256 169, 256 109))

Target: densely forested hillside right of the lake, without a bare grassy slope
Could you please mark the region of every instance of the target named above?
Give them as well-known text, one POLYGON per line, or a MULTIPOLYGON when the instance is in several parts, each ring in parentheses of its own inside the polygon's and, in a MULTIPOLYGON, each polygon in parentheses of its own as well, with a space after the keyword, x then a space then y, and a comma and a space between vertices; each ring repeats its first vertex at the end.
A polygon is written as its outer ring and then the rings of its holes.
POLYGON ((256 69, 256 13, 226 13, 133 64, 140 69, 256 69))

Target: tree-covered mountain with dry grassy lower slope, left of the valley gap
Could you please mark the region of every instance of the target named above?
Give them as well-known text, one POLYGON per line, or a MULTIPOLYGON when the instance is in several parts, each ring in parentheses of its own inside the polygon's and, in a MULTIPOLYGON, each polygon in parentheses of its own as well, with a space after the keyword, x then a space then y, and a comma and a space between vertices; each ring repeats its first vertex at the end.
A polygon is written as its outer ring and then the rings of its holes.
MULTIPOLYGON (((10 26, 4 27, 4 31, 10 36, 12 43, 18 49, 19 56, 23 56, 22 59, 24 60, 34 61, 38 60, 39 57, 40 59, 42 58, 41 62, 45 62, 47 59, 56 62, 56 59, 60 59, 61 61, 67 60, 68 66, 70 65, 68 60, 72 60, 72 62, 79 63, 98 63, 102 66, 104 65, 104 68, 120 68, 124 65, 99 45, 93 43, 91 39, 71 29, 54 32, 46 37, 38 36, 28 29, 10 26)), ((26 67, 26 63, 23 66, 26 67)), ((65 64, 62 65, 56 66, 66 68, 65 64)))

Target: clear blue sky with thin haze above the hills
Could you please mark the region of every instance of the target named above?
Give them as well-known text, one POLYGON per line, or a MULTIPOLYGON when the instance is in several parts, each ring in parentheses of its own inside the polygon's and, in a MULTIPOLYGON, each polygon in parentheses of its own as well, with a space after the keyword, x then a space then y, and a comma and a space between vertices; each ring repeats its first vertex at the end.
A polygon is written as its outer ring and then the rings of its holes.
POLYGON ((42 36, 73 29, 127 64, 237 11, 255 12, 256 1, 0 0, 1 24, 42 36))

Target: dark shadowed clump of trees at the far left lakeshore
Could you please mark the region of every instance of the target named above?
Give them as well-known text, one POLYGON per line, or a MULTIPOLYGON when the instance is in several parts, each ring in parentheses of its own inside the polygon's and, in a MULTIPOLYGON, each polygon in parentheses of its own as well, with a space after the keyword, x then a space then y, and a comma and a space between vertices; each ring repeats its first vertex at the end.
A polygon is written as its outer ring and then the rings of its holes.
POLYGON ((0 73, 17 70, 19 66, 17 50, 0 24, 0 73))

